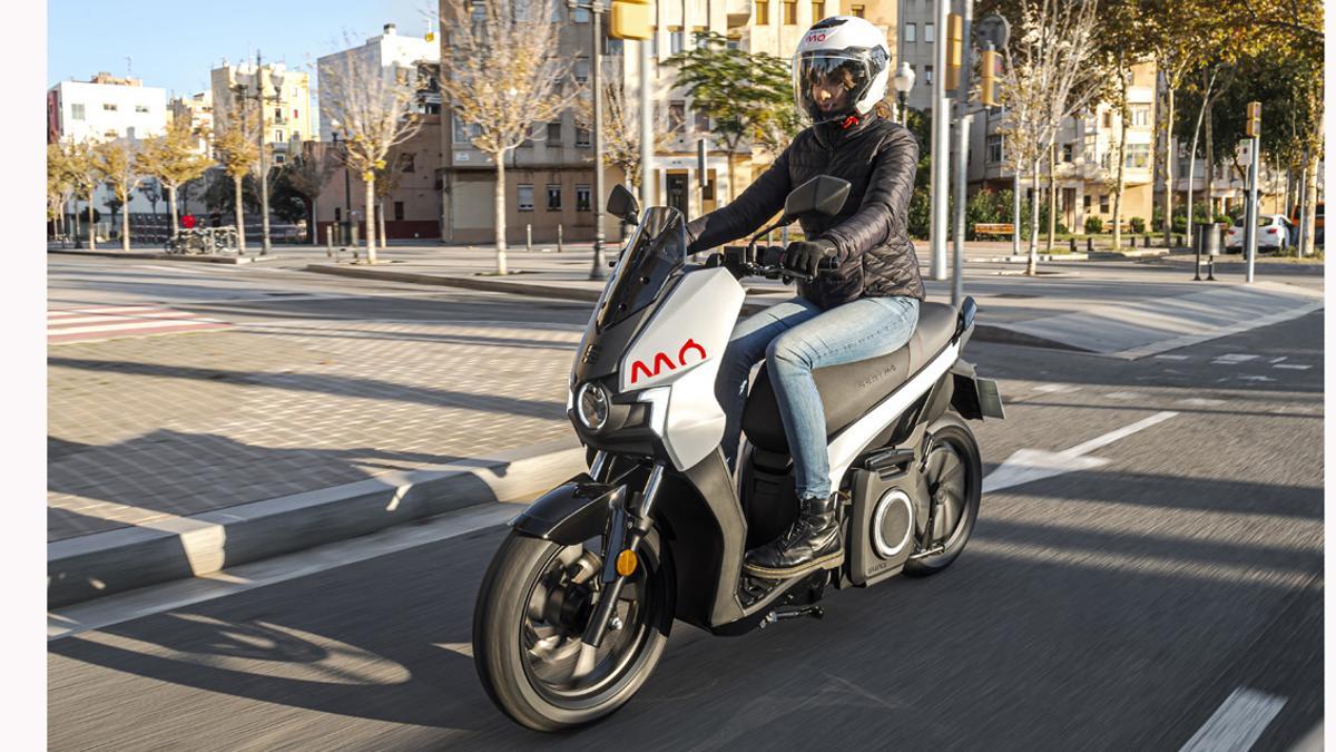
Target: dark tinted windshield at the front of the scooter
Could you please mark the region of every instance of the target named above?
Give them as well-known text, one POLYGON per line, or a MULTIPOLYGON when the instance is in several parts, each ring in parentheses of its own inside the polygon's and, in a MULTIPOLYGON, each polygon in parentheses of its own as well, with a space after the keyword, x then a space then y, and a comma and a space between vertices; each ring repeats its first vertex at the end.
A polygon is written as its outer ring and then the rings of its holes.
POLYGON ((668 277, 687 262, 687 223, 681 211, 653 206, 617 261, 616 272, 599 302, 600 331, 643 310, 659 297, 668 277))

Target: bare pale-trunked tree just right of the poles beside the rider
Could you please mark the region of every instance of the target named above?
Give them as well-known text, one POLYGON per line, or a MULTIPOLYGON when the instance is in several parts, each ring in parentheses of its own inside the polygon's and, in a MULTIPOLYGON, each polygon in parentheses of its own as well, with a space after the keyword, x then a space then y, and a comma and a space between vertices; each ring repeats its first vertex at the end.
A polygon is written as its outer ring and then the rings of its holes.
POLYGON ((1005 130, 1030 167, 1034 207, 1026 274, 1038 269, 1039 162, 1053 149, 1062 122, 1100 95, 1102 68, 1093 66, 1094 0, 1022 0, 1021 23, 1003 52, 1005 130))

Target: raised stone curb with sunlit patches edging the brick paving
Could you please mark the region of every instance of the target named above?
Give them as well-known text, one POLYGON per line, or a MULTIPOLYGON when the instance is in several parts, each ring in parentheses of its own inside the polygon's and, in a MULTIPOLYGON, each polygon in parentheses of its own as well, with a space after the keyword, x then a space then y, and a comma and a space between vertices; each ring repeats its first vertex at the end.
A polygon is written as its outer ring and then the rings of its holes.
POLYGON ((47 606, 200 577, 492 502, 525 502, 585 470, 574 438, 47 543, 47 606))

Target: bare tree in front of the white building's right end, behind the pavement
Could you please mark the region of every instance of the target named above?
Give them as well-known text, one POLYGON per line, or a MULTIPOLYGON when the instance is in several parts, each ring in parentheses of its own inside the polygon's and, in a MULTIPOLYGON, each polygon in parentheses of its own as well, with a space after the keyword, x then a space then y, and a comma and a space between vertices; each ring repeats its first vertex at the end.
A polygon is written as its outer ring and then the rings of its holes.
MULTIPOLYGON (((351 41, 351 40, 349 40, 351 41)), ((349 44, 351 47, 351 43, 349 44)), ((366 262, 375 264, 375 171, 390 150, 422 127, 414 71, 383 68, 369 55, 326 59, 319 67, 326 92, 321 115, 343 134, 347 169, 366 186, 366 262)))

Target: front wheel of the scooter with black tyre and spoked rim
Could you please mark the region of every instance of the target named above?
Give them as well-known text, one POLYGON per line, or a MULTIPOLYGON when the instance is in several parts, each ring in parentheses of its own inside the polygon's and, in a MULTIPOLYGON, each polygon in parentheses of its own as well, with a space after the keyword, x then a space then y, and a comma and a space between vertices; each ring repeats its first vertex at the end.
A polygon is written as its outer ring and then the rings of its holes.
POLYGON ((473 661, 488 696, 518 724, 553 732, 593 723, 627 704, 659 664, 676 591, 651 533, 613 612, 617 629, 592 668, 577 666, 601 590, 600 551, 600 538, 561 546, 512 531, 488 567, 473 610, 473 661))

